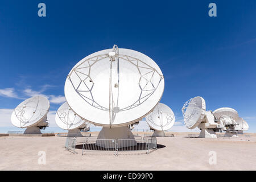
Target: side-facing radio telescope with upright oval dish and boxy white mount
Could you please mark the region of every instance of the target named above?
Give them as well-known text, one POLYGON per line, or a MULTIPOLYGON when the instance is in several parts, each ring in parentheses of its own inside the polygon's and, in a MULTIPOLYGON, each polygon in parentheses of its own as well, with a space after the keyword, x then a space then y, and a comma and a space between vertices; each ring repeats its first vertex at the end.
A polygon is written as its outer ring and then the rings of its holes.
POLYGON ((188 129, 199 127, 200 138, 217 138, 216 131, 222 129, 220 122, 215 121, 212 111, 206 111, 203 97, 194 97, 185 102, 182 113, 188 129))

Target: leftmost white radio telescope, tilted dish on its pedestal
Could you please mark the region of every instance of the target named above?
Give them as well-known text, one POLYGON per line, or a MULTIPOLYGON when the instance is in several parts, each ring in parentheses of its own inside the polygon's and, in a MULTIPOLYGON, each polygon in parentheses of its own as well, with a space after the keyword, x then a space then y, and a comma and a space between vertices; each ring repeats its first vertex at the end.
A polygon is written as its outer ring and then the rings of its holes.
POLYGON ((40 129, 49 126, 47 113, 49 101, 46 97, 35 96, 21 102, 11 113, 11 123, 20 128, 26 128, 24 134, 42 134, 40 129))

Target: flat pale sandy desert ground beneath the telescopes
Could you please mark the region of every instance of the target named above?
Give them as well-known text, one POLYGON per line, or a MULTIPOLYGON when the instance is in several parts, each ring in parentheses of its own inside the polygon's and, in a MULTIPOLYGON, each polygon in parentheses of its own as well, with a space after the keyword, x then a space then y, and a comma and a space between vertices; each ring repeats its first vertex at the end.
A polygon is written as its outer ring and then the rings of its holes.
MULTIPOLYGON (((143 135, 143 133, 135 133, 143 135)), ((97 133, 93 133, 97 135, 97 133)), ((65 137, 0 137, 0 170, 256 170, 256 134, 239 138, 158 137, 158 150, 140 155, 81 155, 65 137), (39 151, 46 164, 39 164, 39 151), (209 160, 216 159, 216 164, 209 160)))

